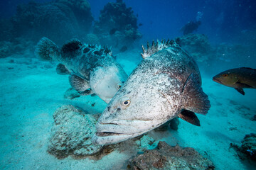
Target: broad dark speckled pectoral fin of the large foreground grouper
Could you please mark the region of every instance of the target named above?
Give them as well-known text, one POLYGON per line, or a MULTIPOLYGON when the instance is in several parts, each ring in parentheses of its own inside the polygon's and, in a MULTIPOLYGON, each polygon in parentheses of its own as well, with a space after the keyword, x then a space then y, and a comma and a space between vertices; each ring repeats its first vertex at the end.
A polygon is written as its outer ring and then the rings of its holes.
POLYGON ((200 77, 191 74, 182 89, 183 108, 195 113, 206 115, 210 108, 208 96, 201 88, 200 77))

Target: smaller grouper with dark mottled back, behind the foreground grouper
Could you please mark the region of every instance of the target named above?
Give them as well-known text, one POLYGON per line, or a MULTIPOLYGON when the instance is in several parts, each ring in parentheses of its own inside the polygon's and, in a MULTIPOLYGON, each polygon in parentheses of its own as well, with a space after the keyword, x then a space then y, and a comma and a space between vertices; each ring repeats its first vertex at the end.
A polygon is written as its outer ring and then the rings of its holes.
POLYGON ((120 89, 127 74, 112 57, 107 47, 82 45, 79 40, 70 40, 59 49, 48 38, 42 38, 36 47, 36 56, 43 60, 60 62, 58 74, 70 74, 73 89, 80 94, 97 94, 109 103, 120 89))

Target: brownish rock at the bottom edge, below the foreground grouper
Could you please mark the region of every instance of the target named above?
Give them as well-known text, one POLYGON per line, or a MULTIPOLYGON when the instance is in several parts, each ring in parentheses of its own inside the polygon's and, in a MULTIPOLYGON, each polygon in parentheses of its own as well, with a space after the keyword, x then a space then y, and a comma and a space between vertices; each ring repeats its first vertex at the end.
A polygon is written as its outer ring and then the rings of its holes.
POLYGON ((147 150, 129 160, 128 169, 215 169, 213 162, 191 147, 171 147, 159 142, 156 149, 147 150))

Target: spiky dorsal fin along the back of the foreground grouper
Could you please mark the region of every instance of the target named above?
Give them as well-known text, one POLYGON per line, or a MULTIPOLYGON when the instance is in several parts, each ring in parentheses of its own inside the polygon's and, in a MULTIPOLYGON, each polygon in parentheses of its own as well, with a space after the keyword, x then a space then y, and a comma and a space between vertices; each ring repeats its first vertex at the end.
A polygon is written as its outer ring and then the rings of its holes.
POLYGON ((176 40, 159 40, 154 42, 152 41, 152 45, 149 45, 149 42, 146 43, 146 48, 142 45, 142 58, 150 57, 151 55, 154 55, 156 52, 159 52, 160 50, 163 50, 164 48, 170 47, 170 46, 179 46, 179 38, 176 40))

